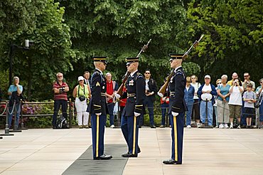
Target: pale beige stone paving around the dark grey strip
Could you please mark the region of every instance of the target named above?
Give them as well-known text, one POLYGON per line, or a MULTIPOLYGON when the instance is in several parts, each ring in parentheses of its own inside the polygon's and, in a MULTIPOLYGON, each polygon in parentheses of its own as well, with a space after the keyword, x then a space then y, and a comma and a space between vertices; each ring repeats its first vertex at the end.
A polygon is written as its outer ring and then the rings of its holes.
MULTIPOLYGON (((0 174, 62 174, 91 144, 91 129, 14 134, 0 139, 0 174)), ((125 143, 120 129, 107 128, 105 138, 105 144, 125 143)), ((139 145, 124 175, 263 174, 263 129, 185 129, 182 165, 162 164, 171 154, 169 128, 141 128, 139 145)))

